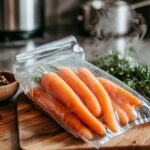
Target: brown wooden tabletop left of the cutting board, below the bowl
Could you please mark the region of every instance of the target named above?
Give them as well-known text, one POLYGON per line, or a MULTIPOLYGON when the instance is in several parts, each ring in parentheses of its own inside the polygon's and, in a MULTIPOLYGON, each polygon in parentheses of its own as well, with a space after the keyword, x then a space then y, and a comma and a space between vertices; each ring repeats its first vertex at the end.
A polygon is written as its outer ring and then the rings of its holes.
POLYGON ((0 150, 18 148, 16 105, 12 101, 0 103, 0 150))

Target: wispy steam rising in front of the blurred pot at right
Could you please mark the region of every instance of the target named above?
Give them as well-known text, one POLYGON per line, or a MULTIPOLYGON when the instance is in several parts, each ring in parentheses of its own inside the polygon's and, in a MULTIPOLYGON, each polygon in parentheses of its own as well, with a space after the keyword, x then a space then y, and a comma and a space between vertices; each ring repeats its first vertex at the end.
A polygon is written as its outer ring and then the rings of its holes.
POLYGON ((93 57, 98 57, 106 51, 115 50, 126 56, 128 48, 140 49, 141 46, 137 43, 143 45, 141 39, 146 29, 143 17, 127 3, 118 1, 113 5, 107 4, 98 14, 98 22, 93 31, 96 35, 95 50, 91 53, 93 57))

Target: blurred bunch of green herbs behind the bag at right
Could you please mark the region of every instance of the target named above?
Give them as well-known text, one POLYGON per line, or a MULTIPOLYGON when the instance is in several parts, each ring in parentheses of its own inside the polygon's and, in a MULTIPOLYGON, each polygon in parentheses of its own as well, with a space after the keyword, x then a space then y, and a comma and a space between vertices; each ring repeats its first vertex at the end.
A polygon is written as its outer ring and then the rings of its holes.
POLYGON ((91 63, 123 81, 150 101, 150 66, 142 66, 132 57, 122 57, 115 52, 109 52, 91 63))

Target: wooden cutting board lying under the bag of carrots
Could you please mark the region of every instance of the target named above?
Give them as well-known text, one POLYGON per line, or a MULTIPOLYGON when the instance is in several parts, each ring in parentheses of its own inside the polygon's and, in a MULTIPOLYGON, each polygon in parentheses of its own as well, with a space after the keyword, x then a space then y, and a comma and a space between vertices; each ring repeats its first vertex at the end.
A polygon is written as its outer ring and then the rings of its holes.
MULTIPOLYGON (((20 147, 23 150, 94 149, 76 139, 55 121, 34 107, 22 93, 17 102, 20 147)), ((130 129, 103 145, 102 149, 150 149, 150 123, 130 129)))

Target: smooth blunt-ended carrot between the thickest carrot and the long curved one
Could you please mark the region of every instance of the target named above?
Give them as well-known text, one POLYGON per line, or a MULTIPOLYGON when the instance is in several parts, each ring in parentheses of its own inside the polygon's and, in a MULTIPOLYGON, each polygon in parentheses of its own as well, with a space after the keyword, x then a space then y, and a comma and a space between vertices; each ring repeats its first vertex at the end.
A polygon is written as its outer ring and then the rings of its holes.
POLYGON ((73 89, 95 117, 100 116, 101 107, 96 97, 70 68, 61 68, 58 75, 73 89))

